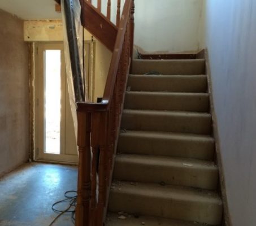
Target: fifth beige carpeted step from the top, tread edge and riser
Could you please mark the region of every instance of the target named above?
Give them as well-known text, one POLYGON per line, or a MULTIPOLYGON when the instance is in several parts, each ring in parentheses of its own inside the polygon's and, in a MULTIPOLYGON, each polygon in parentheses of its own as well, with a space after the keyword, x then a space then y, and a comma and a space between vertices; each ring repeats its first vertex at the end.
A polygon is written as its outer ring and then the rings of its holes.
POLYGON ((196 134, 122 131, 118 140, 118 152, 124 154, 212 160, 214 150, 214 138, 196 134))

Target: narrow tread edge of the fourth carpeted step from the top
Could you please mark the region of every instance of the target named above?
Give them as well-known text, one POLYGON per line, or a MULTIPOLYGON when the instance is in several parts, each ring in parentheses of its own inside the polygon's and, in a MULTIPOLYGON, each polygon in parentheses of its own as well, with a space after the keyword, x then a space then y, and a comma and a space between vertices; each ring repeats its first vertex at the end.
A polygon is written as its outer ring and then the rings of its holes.
POLYGON ((190 116, 190 117, 211 117, 207 112, 193 112, 193 111, 168 111, 168 110, 137 110, 124 109, 123 113, 145 114, 145 115, 170 115, 170 116, 190 116))

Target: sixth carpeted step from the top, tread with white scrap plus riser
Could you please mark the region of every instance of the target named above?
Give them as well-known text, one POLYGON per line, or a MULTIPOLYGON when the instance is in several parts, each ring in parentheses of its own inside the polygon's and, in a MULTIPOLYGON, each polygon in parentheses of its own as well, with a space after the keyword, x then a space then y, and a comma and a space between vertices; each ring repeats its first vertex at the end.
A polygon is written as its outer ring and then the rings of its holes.
POLYGON ((115 180, 215 190, 218 178, 218 167, 209 161, 134 154, 120 154, 115 159, 115 180))

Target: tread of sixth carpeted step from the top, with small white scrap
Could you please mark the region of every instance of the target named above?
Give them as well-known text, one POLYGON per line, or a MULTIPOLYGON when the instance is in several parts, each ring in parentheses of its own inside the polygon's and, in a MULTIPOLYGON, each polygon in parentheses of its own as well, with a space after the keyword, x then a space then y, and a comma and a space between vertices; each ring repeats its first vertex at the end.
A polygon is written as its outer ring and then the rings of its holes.
POLYGON ((218 170, 214 162, 190 159, 190 158, 172 158, 158 155, 138 155, 138 154, 119 154, 116 161, 137 163, 141 165, 154 165, 163 167, 183 167, 218 170))

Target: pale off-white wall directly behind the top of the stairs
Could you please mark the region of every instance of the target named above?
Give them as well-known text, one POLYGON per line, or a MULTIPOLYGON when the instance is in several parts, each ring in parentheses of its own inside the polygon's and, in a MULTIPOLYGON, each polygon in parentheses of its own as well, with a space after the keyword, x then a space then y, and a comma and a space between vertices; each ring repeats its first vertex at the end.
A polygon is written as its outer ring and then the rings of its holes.
POLYGON ((204 1, 135 0, 134 44, 148 52, 201 50, 204 1))

